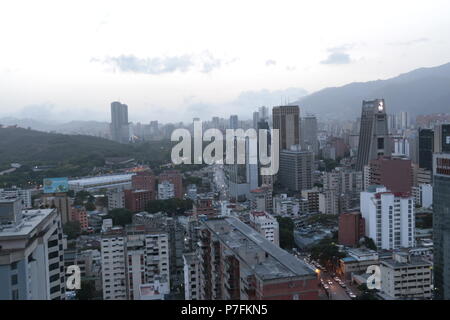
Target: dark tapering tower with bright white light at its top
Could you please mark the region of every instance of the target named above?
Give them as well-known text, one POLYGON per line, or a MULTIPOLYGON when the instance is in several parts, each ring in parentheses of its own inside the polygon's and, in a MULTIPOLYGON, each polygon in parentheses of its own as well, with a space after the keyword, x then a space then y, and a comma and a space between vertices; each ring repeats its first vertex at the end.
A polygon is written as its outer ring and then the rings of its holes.
POLYGON ((384 99, 363 101, 356 170, 362 171, 370 160, 391 155, 384 99))

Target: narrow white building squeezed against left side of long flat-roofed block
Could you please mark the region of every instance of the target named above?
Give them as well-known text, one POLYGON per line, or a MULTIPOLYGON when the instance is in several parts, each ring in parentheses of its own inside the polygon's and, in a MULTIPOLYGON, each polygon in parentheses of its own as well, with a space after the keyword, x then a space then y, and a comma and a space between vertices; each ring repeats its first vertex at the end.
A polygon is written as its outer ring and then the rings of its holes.
POLYGON ((183 254, 184 262, 184 299, 200 299, 200 265, 195 252, 183 254))

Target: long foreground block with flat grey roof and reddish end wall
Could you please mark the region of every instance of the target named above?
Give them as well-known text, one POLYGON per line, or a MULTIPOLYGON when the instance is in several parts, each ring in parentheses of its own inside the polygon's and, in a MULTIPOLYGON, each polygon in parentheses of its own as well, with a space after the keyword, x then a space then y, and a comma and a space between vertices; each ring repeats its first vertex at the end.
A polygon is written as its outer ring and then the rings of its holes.
POLYGON ((318 299, 314 270, 239 219, 206 219, 200 234, 200 299, 318 299))

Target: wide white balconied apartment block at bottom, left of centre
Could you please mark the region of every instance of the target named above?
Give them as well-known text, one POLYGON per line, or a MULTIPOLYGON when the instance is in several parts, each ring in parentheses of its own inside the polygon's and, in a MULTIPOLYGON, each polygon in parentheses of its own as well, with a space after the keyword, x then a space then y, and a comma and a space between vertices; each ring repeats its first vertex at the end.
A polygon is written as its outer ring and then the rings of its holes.
POLYGON ((104 232, 102 275, 105 300, 141 300, 143 288, 156 283, 170 288, 168 234, 143 225, 104 232))

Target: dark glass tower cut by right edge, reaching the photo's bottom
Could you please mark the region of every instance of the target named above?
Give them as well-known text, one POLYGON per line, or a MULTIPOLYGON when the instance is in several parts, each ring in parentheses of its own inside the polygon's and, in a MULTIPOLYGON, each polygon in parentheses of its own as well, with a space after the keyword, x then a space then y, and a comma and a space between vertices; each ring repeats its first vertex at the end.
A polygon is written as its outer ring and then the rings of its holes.
POLYGON ((434 286, 437 299, 450 299, 450 153, 433 155, 434 286))

